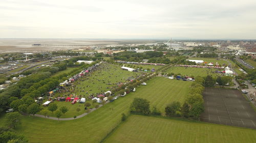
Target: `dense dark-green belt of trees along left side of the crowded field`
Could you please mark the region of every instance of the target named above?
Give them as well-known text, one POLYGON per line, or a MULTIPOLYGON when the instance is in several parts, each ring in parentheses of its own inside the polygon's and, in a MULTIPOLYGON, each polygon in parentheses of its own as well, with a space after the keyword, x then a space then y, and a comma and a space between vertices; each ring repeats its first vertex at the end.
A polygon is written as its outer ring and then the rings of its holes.
MULTIPOLYGON (((50 76, 57 71, 67 69, 68 64, 66 62, 58 62, 55 63, 52 67, 38 69, 38 72, 34 74, 29 72, 31 75, 20 78, 16 84, 12 84, 7 89, 1 91, 0 112, 9 107, 11 103, 8 101, 9 98, 22 98, 24 96, 31 98, 39 97, 42 94, 45 94, 47 91, 54 89, 59 84, 59 82, 67 80, 68 75, 75 75, 79 73, 81 69, 88 68, 94 64, 95 63, 81 64, 78 69, 74 69, 69 73, 63 73, 54 77, 50 76)), ((29 73, 26 73, 25 75, 29 73)))

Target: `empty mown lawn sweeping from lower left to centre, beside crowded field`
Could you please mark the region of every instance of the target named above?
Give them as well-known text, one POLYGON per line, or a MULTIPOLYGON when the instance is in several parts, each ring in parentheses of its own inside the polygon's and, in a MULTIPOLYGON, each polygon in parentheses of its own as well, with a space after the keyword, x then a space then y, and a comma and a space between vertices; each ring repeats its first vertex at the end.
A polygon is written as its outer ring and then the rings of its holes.
POLYGON ((172 101, 184 101, 191 83, 155 77, 147 85, 137 88, 135 93, 119 97, 83 118, 53 121, 25 116, 16 131, 24 134, 30 142, 99 142, 120 122, 121 113, 129 111, 135 97, 145 98, 151 106, 157 105, 163 111, 172 101))

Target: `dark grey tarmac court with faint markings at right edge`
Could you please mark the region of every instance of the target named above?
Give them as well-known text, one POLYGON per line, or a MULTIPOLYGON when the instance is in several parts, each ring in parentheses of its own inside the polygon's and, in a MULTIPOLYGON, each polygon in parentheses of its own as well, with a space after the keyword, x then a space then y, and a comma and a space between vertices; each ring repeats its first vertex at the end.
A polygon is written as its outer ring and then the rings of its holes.
POLYGON ((256 113, 240 91, 205 88, 203 98, 201 121, 256 129, 256 113))

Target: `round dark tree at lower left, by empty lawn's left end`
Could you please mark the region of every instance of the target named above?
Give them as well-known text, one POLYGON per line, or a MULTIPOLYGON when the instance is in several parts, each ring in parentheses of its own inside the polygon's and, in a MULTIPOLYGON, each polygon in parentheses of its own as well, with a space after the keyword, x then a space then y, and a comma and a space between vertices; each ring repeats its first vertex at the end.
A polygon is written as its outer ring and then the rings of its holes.
POLYGON ((21 124, 22 115, 18 112, 9 112, 6 114, 6 125, 9 128, 15 128, 17 125, 21 124))

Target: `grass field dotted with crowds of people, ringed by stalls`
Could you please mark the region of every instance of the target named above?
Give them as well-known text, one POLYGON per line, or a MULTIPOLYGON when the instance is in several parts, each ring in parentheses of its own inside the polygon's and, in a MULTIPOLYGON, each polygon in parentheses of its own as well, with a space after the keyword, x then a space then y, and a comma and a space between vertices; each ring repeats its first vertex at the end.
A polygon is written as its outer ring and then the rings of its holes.
POLYGON ((75 80, 63 86, 55 93, 55 97, 69 97, 93 99, 106 91, 117 88, 133 79, 140 77, 140 72, 127 72, 120 67, 102 63, 90 69, 90 72, 77 76, 75 80), (119 71, 118 74, 113 72, 119 71))

